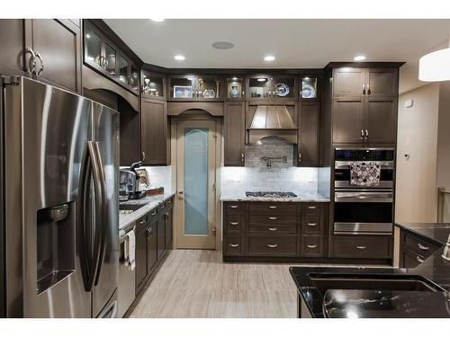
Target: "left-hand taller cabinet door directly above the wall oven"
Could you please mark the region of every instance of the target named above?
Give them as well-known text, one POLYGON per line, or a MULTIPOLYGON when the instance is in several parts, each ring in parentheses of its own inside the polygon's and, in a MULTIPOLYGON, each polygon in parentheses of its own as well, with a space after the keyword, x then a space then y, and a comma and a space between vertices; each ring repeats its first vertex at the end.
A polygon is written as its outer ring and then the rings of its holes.
POLYGON ((363 143, 364 99, 335 99, 333 102, 333 143, 363 143))

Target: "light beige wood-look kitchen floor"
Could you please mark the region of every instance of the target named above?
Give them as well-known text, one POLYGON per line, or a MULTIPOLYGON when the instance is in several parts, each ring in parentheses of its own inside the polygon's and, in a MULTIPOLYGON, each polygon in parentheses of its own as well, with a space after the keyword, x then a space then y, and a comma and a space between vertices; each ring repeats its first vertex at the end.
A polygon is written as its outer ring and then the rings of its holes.
POLYGON ((130 317, 296 317, 293 265, 300 264, 224 263, 218 251, 171 251, 130 317))

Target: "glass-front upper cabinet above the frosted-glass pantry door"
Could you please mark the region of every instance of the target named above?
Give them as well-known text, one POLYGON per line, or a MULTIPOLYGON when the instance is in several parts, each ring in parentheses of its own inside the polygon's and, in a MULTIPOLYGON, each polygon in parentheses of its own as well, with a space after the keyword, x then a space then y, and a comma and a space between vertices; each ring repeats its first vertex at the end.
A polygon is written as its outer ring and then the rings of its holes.
POLYGON ((170 101, 223 101, 223 79, 214 75, 171 75, 170 101))

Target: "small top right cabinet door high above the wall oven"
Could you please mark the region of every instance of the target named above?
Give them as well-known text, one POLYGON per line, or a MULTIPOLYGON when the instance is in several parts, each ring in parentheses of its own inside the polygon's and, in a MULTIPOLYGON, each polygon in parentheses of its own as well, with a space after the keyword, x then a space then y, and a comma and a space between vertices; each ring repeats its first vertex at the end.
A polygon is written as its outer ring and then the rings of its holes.
POLYGON ((366 94, 370 97, 397 97, 399 88, 398 69, 367 69, 366 94))

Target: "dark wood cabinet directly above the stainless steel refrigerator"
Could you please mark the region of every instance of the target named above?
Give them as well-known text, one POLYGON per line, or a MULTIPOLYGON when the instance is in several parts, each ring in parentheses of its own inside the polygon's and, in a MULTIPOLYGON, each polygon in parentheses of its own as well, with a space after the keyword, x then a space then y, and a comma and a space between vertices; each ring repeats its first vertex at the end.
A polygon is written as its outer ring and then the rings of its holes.
POLYGON ((81 31, 70 20, 0 20, 0 71, 81 92, 81 31))

